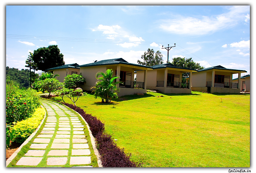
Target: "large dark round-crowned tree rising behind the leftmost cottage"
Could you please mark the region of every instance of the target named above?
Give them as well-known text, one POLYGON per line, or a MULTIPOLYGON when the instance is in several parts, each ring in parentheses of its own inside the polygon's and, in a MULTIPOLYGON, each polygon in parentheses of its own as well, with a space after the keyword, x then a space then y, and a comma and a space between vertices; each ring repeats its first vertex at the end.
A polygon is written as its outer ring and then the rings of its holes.
POLYGON ((63 54, 60 53, 57 45, 50 45, 48 47, 41 47, 34 50, 32 59, 34 63, 36 63, 37 70, 42 71, 65 65, 65 62, 63 61, 63 54))

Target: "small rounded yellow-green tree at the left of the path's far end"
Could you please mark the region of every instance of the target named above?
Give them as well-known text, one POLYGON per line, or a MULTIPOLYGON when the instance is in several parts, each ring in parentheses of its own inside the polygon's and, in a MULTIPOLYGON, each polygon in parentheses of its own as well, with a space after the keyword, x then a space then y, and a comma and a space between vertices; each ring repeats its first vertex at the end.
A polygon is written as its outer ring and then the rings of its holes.
POLYGON ((63 83, 59 82, 59 80, 55 78, 47 78, 44 80, 38 80, 35 86, 36 88, 41 88, 43 90, 48 91, 49 92, 48 97, 50 97, 51 92, 57 89, 62 89, 63 83))

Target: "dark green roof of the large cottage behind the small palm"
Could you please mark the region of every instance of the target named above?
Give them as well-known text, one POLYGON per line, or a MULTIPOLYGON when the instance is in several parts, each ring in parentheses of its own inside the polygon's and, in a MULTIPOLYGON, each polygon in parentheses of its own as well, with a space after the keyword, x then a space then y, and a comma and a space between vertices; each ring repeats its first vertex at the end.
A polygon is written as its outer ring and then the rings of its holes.
POLYGON ((138 67, 145 67, 145 68, 153 69, 152 67, 149 67, 149 66, 143 66, 143 65, 139 65, 139 64, 128 63, 123 58, 106 59, 106 60, 101 60, 101 61, 97 61, 97 62, 90 63, 90 64, 80 65, 78 67, 103 66, 103 65, 112 65, 112 64, 127 64, 127 65, 132 65, 132 66, 138 66, 138 67))

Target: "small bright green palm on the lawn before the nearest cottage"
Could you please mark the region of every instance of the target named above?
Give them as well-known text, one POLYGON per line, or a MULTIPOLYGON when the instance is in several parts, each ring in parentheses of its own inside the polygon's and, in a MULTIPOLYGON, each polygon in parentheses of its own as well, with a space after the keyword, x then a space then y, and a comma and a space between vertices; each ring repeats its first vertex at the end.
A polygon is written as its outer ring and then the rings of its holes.
POLYGON ((116 87, 116 84, 122 83, 121 81, 115 81, 116 79, 120 79, 119 76, 113 76, 113 70, 108 69, 105 73, 102 71, 96 73, 96 78, 98 81, 96 82, 94 87, 91 89, 94 90, 95 98, 101 97, 102 103, 110 103, 110 100, 113 97, 118 98, 117 93, 119 92, 119 88, 116 87), (100 76, 102 75, 102 76, 100 76), (100 76, 100 77, 98 77, 100 76))

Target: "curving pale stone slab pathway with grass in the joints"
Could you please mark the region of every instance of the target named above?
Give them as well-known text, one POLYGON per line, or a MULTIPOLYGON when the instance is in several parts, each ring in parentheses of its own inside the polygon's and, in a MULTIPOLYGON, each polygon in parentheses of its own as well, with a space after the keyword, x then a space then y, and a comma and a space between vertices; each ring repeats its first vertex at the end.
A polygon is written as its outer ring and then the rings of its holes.
MULTIPOLYGON (((48 114, 46 123, 30 149, 16 165, 92 167, 91 151, 93 150, 89 149, 84 135, 84 125, 79 120, 79 115, 58 103, 47 100, 41 102, 48 114)), ((86 126, 85 128, 87 130, 86 126)))

